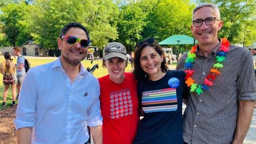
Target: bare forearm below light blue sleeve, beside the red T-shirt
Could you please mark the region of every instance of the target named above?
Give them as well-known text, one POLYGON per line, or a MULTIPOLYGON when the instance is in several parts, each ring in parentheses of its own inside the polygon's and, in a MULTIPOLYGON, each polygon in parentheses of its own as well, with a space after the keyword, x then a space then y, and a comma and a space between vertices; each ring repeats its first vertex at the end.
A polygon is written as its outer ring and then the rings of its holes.
POLYGON ((102 126, 90 127, 93 142, 95 144, 102 144, 102 126))

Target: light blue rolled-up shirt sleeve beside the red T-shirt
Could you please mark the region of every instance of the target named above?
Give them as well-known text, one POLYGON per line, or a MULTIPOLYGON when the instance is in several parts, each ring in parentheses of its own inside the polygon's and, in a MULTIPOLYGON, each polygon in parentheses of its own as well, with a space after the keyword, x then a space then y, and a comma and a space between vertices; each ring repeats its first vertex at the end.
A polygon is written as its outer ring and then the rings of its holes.
POLYGON ((99 83, 97 83, 96 95, 93 104, 91 105, 88 111, 88 125, 90 127, 101 126, 102 125, 102 116, 100 114, 100 88, 99 83))

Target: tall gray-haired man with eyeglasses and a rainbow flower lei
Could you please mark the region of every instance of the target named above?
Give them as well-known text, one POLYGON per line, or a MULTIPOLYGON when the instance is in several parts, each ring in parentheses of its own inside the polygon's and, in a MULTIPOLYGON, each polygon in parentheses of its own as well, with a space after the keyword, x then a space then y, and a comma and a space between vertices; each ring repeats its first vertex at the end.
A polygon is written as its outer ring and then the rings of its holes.
POLYGON ((250 52, 218 38, 223 26, 218 7, 193 10, 191 32, 198 44, 176 69, 186 73, 190 90, 183 118, 184 143, 243 143, 256 100, 250 52))

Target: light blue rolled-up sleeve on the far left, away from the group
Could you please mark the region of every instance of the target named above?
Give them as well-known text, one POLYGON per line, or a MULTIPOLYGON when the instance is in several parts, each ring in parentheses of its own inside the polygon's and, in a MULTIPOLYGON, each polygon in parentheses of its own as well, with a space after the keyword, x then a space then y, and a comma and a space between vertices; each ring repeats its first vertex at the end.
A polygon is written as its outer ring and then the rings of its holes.
POLYGON ((37 86, 35 71, 31 68, 25 76, 20 89, 16 119, 13 120, 16 130, 33 128, 37 105, 37 86))

